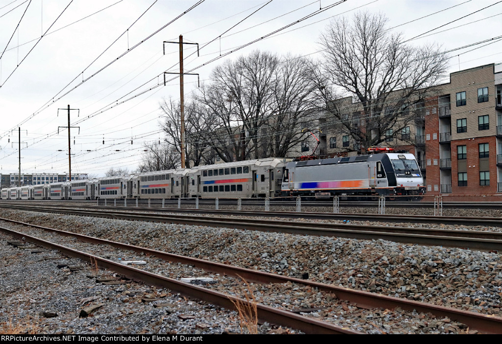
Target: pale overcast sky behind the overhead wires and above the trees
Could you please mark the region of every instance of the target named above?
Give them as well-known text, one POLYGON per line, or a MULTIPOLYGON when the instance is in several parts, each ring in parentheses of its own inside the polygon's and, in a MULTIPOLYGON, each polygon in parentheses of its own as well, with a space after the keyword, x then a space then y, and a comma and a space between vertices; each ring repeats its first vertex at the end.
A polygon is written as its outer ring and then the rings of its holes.
MULTIPOLYGON (((496 0, 346 0, 210 62, 336 3, 206 0, 183 15, 197 0, 0 0, 0 172, 18 171, 18 126, 22 173, 68 172, 67 129, 58 134, 58 127, 68 125, 68 105, 80 109, 71 111, 72 126, 79 127, 71 128, 72 174, 136 169, 144 143, 163 138, 160 100, 180 97, 179 78, 164 87, 162 76, 179 72, 178 45, 167 44, 163 55, 163 41, 178 41, 179 35, 199 43, 199 57, 195 46, 185 45, 184 67, 185 72, 196 68, 191 73, 199 73, 201 82, 209 82, 211 70, 226 59, 253 50, 320 58, 320 33, 330 21, 359 10, 385 14, 389 28, 396 27, 393 31, 405 39, 466 16, 411 41, 415 46, 438 43, 453 50, 502 35, 502 2, 496 0)), ((450 53, 449 71, 502 62, 500 42, 481 46, 450 53)), ((184 79, 187 99, 196 92, 197 77, 184 79)))

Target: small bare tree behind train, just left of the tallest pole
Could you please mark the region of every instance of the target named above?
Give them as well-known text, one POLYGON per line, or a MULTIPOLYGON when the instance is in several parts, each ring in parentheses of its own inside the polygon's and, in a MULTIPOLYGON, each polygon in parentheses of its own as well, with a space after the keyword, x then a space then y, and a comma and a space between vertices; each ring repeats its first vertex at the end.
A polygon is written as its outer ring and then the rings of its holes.
POLYGON ((181 155, 178 150, 166 142, 146 143, 145 150, 147 152, 138 167, 139 172, 164 171, 181 166, 181 155))

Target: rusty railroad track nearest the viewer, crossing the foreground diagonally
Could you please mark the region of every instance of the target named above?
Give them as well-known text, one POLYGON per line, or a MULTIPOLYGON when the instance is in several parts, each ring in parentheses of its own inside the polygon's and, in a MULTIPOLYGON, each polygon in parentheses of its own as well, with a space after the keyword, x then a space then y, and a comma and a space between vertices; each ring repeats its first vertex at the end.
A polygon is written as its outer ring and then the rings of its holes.
MULTIPOLYGON (((267 284, 268 288, 271 288, 271 284, 285 285, 287 283, 308 286, 309 288, 323 292, 325 295, 336 295, 335 301, 333 302, 338 304, 339 307, 357 307, 366 310, 380 308, 403 309, 410 312, 416 310, 424 314, 432 313, 437 317, 448 317, 451 320, 466 324, 467 326, 469 326, 469 328, 476 329, 482 333, 502 333, 502 318, 500 317, 483 315, 477 312, 469 312, 465 310, 448 308, 423 302, 401 299, 397 297, 357 291, 354 289, 343 288, 294 277, 287 277, 258 270, 245 269, 242 267, 227 264, 215 263, 208 260, 186 257, 145 247, 108 241, 68 231, 13 221, 10 219, 0 220, 14 223, 16 225, 23 225, 25 226, 24 228, 26 228, 26 230, 23 231, 19 231, 19 229, 13 230, 5 227, 0 228, 2 231, 8 233, 9 235, 21 238, 22 240, 33 242, 43 247, 58 249, 66 255, 78 257, 85 261, 93 261, 101 267, 111 269, 117 273, 127 276, 128 278, 141 280, 145 283, 148 283, 149 285, 167 287, 191 297, 207 300, 211 303, 230 309, 233 309, 235 307, 234 302, 237 301, 237 297, 229 295, 228 292, 214 290, 214 288, 211 288, 212 284, 209 284, 208 287, 201 287, 192 285, 190 283, 184 283, 173 278, 168 278, 165 275, 160 275, 158 273, 148 271, 147 269, 124 265, 111 259, 105 259, 96 256, 93 253, 84 252, 79 244, 76 244, 74 240, 64 241, 59 238, 57 239, 57 241, 60 243, 55 243, 52 242, 54 240, 54 237, 50 237, 50 240, 39 238, 40 234, 37 231, 42 229, 46 232, 51 233, 51 235, 57 234, 57 237, 70 237, 72 239, 78 239, 81 242, 91 243, 95 246, 93 251, 103 252, 104 254, 111 254, 107 253, 109 252, 109 250, 105 248, 105 246, 109 246, 113 247, 113 249, 129 250, 137 254, 141 254, 142 256, 152 257, 152 259, 155 257, 156 259, 158 258, 164 261, 185 264, 190 267, 190 270, 193 270, 193 267, 196 267, 201 270, 219 273, 220 279, 227 278, 226 276, 240 276, 247 281, 265 283, 267 284), (33 233, 35 233, 37 236, 33 235, 33 233), (63 245, 61 241, 64 241, 65 245, 63 245), (77 247, 68 247, 66 246, 68 243, 77 247), (340 302, 342 302, 341 305, 340 302), (348 302, 349 304, 344 304, 344 302, 348 302)), ((169 266, 167 269, 172 269, 172 266, 169 266)), ((330 297, 333 298, 332 296, 330 297)), ((329 299, 329 297, 327 299, 329 299)), ((247 302, 243 299, 239 299, 239 301, 243 302, 244 304, 247 302)), ((335 306, 331 307, 334 308, 335 306)), ((306 333, 359 333, 358 331, 335 325, 327 321, 320 320, 319 318, 297 314, 294 311, 291 311, 291 309, 281 309, 266 304, 258 304, 257 309, 258 317, 264 321, 300 329, 306 333)), ((301 311, 301 309, 299 311, 301 311)), ((311 311, 312 310, 303 309, 303 313, 309 313, 311 311)), ((371 321, 375 320, 372 319, 371 321)))

